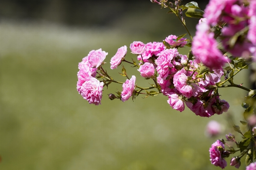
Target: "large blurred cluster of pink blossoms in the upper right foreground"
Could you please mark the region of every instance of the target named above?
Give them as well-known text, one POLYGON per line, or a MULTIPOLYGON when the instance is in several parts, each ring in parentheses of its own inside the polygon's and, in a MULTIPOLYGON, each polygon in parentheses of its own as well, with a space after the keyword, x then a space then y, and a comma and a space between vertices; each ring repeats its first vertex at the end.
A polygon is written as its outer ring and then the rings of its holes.
POLYGON ((256 57, 256 1, 249 0, 210 0, 203 19, 196 27, 192 51, 206 66, 216 68, 227 63, 218 49, 212 26, 221 29, 221 43, 233 56, 256 57), (203 21, 203 22, 202 22, 203 21), (223 28, 221 25, 224 24, 223 28), (234 37, 236 36, 236 37, 234 37))

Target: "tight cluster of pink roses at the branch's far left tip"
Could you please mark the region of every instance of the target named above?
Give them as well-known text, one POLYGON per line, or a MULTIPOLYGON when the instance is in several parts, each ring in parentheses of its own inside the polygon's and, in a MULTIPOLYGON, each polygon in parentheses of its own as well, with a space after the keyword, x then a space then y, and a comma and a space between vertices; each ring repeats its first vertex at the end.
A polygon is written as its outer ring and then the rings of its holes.
POLYGON ((106 55, 108 53, 102 49, 92 50, 78 65, 77 91, 90 104, 101 104, 103 82, 97 80, 95 76, 97 68, 102 64, 106 55))

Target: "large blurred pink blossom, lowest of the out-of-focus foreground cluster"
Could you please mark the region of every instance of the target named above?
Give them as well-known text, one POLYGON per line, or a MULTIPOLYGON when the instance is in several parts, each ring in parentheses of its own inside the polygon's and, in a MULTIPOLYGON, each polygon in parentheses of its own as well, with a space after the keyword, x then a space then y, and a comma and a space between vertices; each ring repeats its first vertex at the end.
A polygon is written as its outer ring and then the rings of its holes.
POLYGON ((192 51, 195 57, 211 69, 219 69, 224 66, 228 58, 225 58, 217 48, 218 43, 214 38, 214 33, 208 33, 209 26, 206 23, 201 23, 196 28, 196 35, 192 43, 192 51))

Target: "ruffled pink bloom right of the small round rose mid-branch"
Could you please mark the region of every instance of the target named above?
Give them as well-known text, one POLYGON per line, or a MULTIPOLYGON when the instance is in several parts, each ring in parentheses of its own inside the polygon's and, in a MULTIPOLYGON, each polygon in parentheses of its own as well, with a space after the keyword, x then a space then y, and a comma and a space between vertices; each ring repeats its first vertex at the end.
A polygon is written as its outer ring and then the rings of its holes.
POLYGON ((155 62, 157 64, 157 73, 161 78, 165 79, 168 76, 169 68, 173 67, 171 61, 178 54, 177 49, 166 49, 159 54, 155 62))

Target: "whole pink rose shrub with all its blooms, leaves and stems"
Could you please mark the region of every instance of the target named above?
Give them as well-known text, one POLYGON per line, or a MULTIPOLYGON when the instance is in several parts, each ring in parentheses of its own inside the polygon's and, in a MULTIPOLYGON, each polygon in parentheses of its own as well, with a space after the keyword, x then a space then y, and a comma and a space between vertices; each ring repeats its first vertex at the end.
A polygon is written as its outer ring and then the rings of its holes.
MULTIPOLYGON (((122 76, 125 82, 116 81, 107 70, 103 69, 107 52, 102 49, 92 50, 79 63, 77 90, 90 104, 99 105, 102 99, 102 89, 111 83, 122 84, 122 92, 117 95, 110 93, 111 100, 134 100, 138 95, 144 98, 163 94, 167 103, 180 112, 185 105, 201 117, 210 117, 227 112, 230 105, 221 100, 219 88, 237 87, 248 91, 242 107, 244 119, 241 124, 248 127, 242 133, 238 125, 234 130, 242 135, 241 141, 235 140, 235 135, 226 135, 217 140, 209 149, 210 161, 222 169, 227 166, 226 158, 240 151, 238 156, 231 158, 230 166, 240 167, 240 159, 245 156, 247 170, 256 170, 253 164, 255 151, 256 90, 248 89, 242 84, 235 84, 233 77, 256 60, 256 1, 255 0, 210 0, 205 12, 201 11, 196 2, 181 5, 182 0, 175 3, 168 0, 151 0, 168 8, 168 13, 177 16, 185 27, 189 38, 183 35, 169 35, 163 42, 148 42, 144 44, 134 41, 130 44, 131 53, 137 61, 126 56, 127 46, 120 47, 111 58, 111 69, 118 69, 122 62, 137 67, 145 80, 151 81, 149 87, 140 87, 134 75, 129 77, 122 65, 122 76), (186 11, 186 12, 185 12, 186 11), (196 26, 195 37, 192 37, 186 27, 183 12, 187 17, 200 18, 196 26), (187 55, 180 54, 179 48, 191 47, 187 55), (223 81, 221 78, 223 77, 223 81), (229 84, 227 84, 229 83, 229 84), (154 90, 151 90, 154 89, 154 90), (131 99, 130 99, 131 100, 131 99), (249 123, 248 123, 249 122, 249 123), (254 128, 255 127, 255 128, 254 128), (235 144, 238 149, 234 149, 235 144), (225 148, 224 145, 227 145, 225 148), (228 148, 228 149, 227 149, 228 148)), ((207 133, 218 135, 221 127, 216 122, 210 122, 207 133)))

